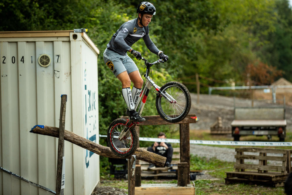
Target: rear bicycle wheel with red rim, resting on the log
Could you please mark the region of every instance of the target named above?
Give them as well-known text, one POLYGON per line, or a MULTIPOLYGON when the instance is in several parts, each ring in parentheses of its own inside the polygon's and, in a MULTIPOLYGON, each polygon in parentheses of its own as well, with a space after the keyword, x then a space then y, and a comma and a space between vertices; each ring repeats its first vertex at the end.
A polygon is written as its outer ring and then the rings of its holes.
POLYGON ((135 127, 132 127, 128 134, 119 140, 119 136, 126 122, 126 119, 118 118, 109 125, 107 131, 107 143, 110 149, 122 158, 131 156, 135 153, 138 146, 138 134, 135 127))

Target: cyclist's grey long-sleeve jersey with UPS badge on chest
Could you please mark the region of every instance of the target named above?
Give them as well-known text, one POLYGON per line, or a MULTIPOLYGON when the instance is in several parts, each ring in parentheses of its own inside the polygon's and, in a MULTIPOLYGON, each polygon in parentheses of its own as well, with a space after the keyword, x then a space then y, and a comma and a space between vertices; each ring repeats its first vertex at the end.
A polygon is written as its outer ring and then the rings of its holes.
POLYGON ((112 39, 107 44, 107 48, 117 52, 120 55, 126 55, 131 46, 137 42, 141 37, 147 46, 147 48, 154 54, 158 55, 159 49, 155 46, 149 37, 149 27, 139 27, 138 18, 129 20, 121 25, 116 33, 112 36, 112 39))

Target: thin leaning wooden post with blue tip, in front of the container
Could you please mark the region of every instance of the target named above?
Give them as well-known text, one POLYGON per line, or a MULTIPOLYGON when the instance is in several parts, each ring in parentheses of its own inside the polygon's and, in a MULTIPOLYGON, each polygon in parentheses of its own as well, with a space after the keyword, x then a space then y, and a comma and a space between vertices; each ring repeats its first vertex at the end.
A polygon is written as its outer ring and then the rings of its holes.
MULTIPOLYGON (((62 181, 62 166, 63 166, 63 156, 64 156, 66 101, 67 101, 67 95, 61 95, 58 159, 57 159, 57 180, 56 180, 56 194, 57 195, 64 194, 64 188, 61 189, 61 181, 62 181)), ((62 185, 65 185, 65 183, 62 185)))

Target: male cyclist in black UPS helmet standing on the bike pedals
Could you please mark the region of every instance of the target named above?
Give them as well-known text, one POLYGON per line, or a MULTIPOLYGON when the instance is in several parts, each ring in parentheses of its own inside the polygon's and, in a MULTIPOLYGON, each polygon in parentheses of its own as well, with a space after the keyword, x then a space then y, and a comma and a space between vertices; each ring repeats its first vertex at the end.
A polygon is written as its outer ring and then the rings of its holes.
POLYGON ((130 117, 130 121, 134 122, 145 121, 145 118, 142 118, 135 111, 135 105, 142 91, 143 79, 137 65, 128 56, 127 51, 138 60, 141 60, 140 52, 135 51, 131 46, 142 37, 147 48, 152 53, 157 54, 165 62, 168 60, 168 56, 157 49, 149 37, 148 24, 151 22, 155 12, 155 7, 151 3, 147 1, 140 3, 137 8, 138 18, 122 24, 112 36, 112 39, 107 44, 107 49, 103 53, 105 64, 122 83, 122 95, 128 107, 126 115, 130 117), (131 81, 134 84, 132 90, 130 88, 131 81))

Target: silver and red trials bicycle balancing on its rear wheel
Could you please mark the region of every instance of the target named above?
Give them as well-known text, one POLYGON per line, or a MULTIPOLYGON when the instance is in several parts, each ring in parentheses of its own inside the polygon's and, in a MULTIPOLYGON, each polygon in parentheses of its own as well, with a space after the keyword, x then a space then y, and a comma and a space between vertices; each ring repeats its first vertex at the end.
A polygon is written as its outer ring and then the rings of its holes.
MULTIPOLYGON (((168 82, 162 87, 159 87, 150 78, 151 66, 157 63, 163 63, 162 59, 159 59, 153 63, 149 63, 145 58, 141 58, 145 61, 146 73, 144 75, 146 82, 140 93, 138 102, 135 106, 135 110, 141 115, 145 106, 147 96, 151 89, 151 86, 156 90, 156 110, 160 117, 171 123, 180 122, 183 120, 190 111, 191 108, 191 96, 190 92, 180 82, 168 82)), ((152 75, 151 75, 152 76, 152 75)), ((107 131, 107 143, 111 150, 119 157, 131 156, 138 146, 138 133, 135 129, 136 125, 140 122, 132 122, 129 119, 118 118, 114 120, 107 131)))

